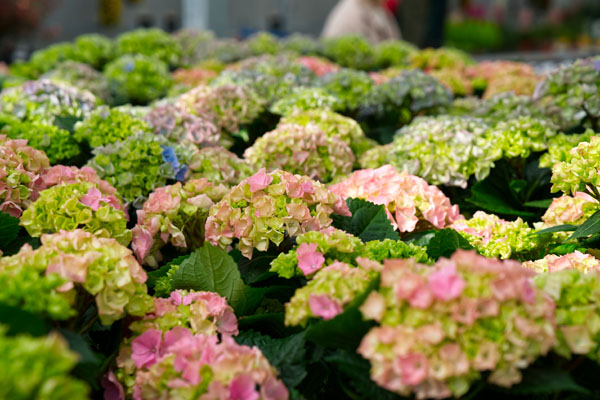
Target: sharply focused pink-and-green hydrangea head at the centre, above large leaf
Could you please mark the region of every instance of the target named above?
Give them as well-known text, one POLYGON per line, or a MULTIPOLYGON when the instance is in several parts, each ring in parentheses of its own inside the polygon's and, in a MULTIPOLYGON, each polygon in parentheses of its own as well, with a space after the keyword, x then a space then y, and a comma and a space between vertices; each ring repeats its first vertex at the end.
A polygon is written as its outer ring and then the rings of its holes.
POLYGON ((287 236, 331 225, 332 213, 350 215, 337 195, 312 179, 286 171, 260 170, 215 204, 206 222, 206 240, 226 248, 239 239, 241 253, 266 251, 287 236))

